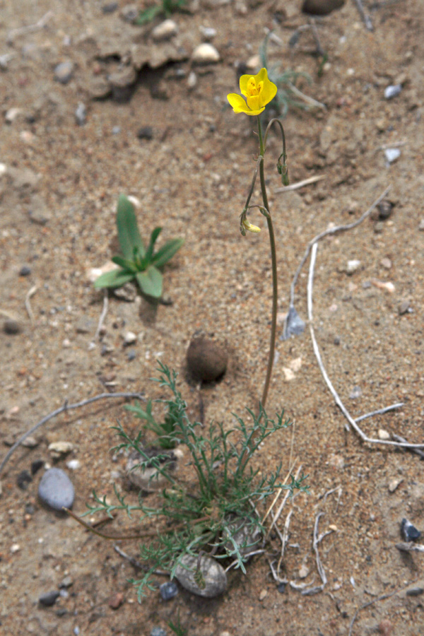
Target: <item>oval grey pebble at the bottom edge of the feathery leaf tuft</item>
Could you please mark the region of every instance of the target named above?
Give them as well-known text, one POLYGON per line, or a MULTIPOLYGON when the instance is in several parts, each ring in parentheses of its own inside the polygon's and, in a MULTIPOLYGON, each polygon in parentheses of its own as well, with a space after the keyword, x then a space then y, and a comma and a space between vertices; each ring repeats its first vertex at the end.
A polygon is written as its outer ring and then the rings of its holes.
POLYGON ((204 579, 204 587, 199 587, 194 580, 197 563, 198 558, 189 554, 184 554, 179 560, 175 568, 175 578, 182 584, 182 587, 193 594, 205 596, 208 599, 222 594, 227 589, 227 575, 222 565, 212 557, 202 555, 200 571, 204 579), (187 568, 189 569, 187 570, 187 568))

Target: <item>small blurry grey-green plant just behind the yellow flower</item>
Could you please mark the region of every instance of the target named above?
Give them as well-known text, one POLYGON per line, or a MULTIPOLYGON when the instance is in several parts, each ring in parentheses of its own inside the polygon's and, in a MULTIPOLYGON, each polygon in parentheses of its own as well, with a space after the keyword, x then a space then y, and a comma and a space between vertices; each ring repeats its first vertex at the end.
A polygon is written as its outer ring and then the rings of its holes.
POLYGON ((308 84, 312 84, 312 78, 308 73, 299 73, 297 71, 281 71, 278 64, 269 64, 268 58, 268 42, 271 31, 265 36, 264 41, 259 48, 259 57, 261 66, 268 71, 269 79, 276 85, 277 93, 275 99, 276 111, 281 117, 285 117, 289 108, 300 108, 302 110, 311 110, 312 108, 321 108, 325 110, 324 104, 317 102, 309 95, 305 95, 296 86, 296 83, 303 79, 308 84))

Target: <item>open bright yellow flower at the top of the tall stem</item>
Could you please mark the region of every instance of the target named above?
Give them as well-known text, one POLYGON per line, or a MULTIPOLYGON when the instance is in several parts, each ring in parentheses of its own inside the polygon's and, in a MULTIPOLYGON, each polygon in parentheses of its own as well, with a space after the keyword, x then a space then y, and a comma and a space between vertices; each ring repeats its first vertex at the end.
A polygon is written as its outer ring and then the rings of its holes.
POLYGON ((234 112, 245 112, 256 115, 265 110, 265 106, 275 98, 277 87, 268 79, 266 69, 261 69, 257 75, 242 75, 240 77, 240 93, 230 93, 227 99, 234 112))

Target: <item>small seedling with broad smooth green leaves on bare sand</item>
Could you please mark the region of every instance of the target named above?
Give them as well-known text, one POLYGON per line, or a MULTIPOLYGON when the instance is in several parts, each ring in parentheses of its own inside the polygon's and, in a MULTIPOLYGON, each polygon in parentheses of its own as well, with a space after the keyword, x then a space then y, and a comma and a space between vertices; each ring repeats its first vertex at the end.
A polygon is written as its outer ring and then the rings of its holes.
POLYGON ((160 269, 178 252, 184 239, 170 240, 160 247, 158 252, 154 252, 155 242, 162 231, 162 228, 155 228, 146 249, 139 232, 134 207, 124 194, 121 194, 118 200, 117 230, 122 256, 115 256, 112 261, 119 265, 120 269, 99 276, 94 283, 95 288, 122 287, 135 279, 144 294, 160 298, 163 287, 160 269))

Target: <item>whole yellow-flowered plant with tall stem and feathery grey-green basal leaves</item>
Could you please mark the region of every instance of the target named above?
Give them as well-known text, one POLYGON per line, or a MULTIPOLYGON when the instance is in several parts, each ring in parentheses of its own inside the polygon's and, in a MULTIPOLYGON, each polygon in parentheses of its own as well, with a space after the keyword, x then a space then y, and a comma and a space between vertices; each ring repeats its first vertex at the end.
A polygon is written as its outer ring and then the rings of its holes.
MULTIPOLYGON (((235 112, 257 116, 259 131, 259 157, 252 187, 240 217, 240 230, 242 235, 260 231, 247 220, 249 210, 259 207, 268 222, 271 240, 273 322, 266 384, 257 412, 247 408, 252 420, 249 425, 235 414, 235 424, 229 427, 224 427, 223 423, 204 425, 189 418, 187 402, 177 385, 177 373, 158 362, 159 377, 155 382, 170 395, 168 399, 155 401, 165 407, 164 423, 160 423, 153 413, 160 411, 160 406, 152 406, 151 401, 148 401, 146 410, 140 406, 131 410, 146 420, 148 428, 157 435, 156 443, 161 448, 152 452, 152 447, 144 444, 142 431, 136 437, 130 437, 118 424, 117 432, 122 441, 116 447, 117 452, 131 452, 131 455, 135 452, 138 459, 131 471, 150 475, 148 488, 142 488, 152 493, 156 484, 158 492, 152 494, 148 502, 140 495, 135 504, 127 503, 126 497, 116 487, 117 504, 111 504, 106 497, 101 498, 93 493, 95 504, 88 505, 87 514, 102 512, 112 516, 119 510, 126 510, 129 517, 139 514, 136 535, 107 536, 90 528, 106 538, 143 540, 139 558, 144 572, 139 579, 133 579, 139 596, 145 594, 146 587, 152 587, 151 579, 158 570, 169 573, 171 578, 176 577, 183 587, 200 596, 220 594, 227 584, 226 570, 220 563, 224 562, 227 570, 240 567, 246 572, 245 563, 249 557, 265 551, 269 532, 266 532, 264 522, 272 509, 271 505, 264 516, 259 514, 258 509, 265 500, 275 495, 277 490, 280 493, 289 490, 290 495, 293 495, 295 490, 307 492, 308 489, 303 475, 300 478, 291 476, 290 480, 286 478, 282 481, 281 462, 275 471, 269 473, 252 466, 252 458, 264 440, 287 428, 290 422, 285 420, 284 411, 276 413, 275 418, 269 418, 264 408, 275 346, 277 278, 276 245, 264 179, 264 153, 269 128, 262 136, 259 114, 276 95, 276 86, 269 81, 266 69, 261 69, 257 75, 242 76, 240 90, 245 99, 241 95, 228 95, 228 100, 235 112), (261 180, 263 204, 251 206, 257 172, 261 180), (181 464, 177 466, 177 451, 184 458, 184 467, 181 464), (286 483, 287 480, 290 483, 286 483)), ((280 122, 278 124, 283 133, 283 126, 280 122)), ((283 153, 278 158, 278 170, 283 182, 287 183, 285 143, 283 153)), ((276 497, 273 500, 275 502, 276 497)), ((81 519, 78 520, 81 522, 81 519)))

